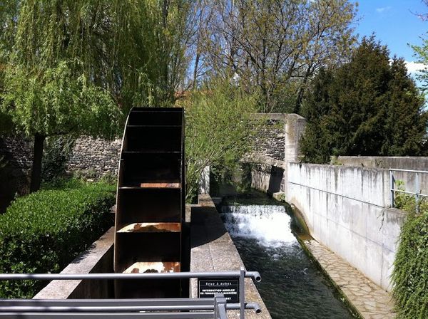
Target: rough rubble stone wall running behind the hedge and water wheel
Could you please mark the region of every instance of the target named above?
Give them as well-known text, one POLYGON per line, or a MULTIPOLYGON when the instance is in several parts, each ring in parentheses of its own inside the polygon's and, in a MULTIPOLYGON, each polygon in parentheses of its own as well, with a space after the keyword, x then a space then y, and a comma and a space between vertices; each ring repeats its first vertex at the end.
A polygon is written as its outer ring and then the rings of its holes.
MULTIPOLYGON (((257 113, 255 117, 265 121, 265 128, 256 141, 256 149, 259 155, 263 155, 270 160, 285 160, 285 125, 288 115, 285 114, 262 114, 257 113)), ((296 115, 298 116, 298 115, 296 115)), ((294 133, 293 133, 294 135, 294 133)), ((7 155, 9 160, 9 173, 1 177, 0 182, 0 211, 1 194, 13 198, 16 192, 20 194, 28 190, 29 173, 32 164, 32 141, 21 137, 4 137, 0 140, 0 157, 7 155), (13 178, 12 178, 13 177, 13 178), (16 187, 10 187, 10 181, 16 180, 16 187), (6 194, 7 193, 7 194, 6 194)), ((113 141, 94 139, 91 137, 80 137, 76 140, 71 153, 70 160, 66 165, 68 172, 78 172, 79 174, 97 179, 105 174, 116 175, 118 172, 119 157, 121 152, 121 138, 113 141)), ((275 181, 281 179, 281 169, 275 167, 261 167, 256 163, 255 169, 259 167, 260 180, 270 179, 270 171, 275 172, 275 181)), ((4 169, 2 172, 5 172, 4 169)), ((272 184, 278 184, 277 182, 272 184)), ((281 182, 280 182, 281 184, 281 182)), ((257 187, 257 183, 255 184, 257 187)), ((206 188, 206 187, 205 187, 206 188)), ((272 188, 272 187, 271 187, 272 188)), ((283 189, 284 187, 282 187, 283 189)), ((206 192, 206 190, 205 190, 206 192)), ((275 191, 277 192, 277 190, 275 191)))

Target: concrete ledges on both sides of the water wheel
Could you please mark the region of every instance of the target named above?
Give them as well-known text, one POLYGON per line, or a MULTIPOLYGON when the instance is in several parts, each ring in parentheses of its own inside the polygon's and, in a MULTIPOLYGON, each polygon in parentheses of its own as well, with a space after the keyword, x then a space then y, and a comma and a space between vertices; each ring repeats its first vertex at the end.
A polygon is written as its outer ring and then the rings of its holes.
MULTIPOLYGON (((209 195, 200 195, 198 205, 186 207, 190 224, 190 271, 237 271, 244 266, 232 239, 209 195)), ((114 227, 76 257, 61 273, 112 273, 114 227)), ((251 269, 249 269, 251 270, 251 269)), ((262 278, 263 280, 263 278, 262 278)), ((35 299, 112 298, 113 283, 108 281, 51 281, 35 299)), ((198 298, 198 281, 190 283, 190 298, 198 298)), ((253 279, 245 278, 245 301, 258 303, 262 312, 245 310, 245 318, 271 319, 253 279)), ((239 310, 228 310, 228 318, 238 319, 239 310)))

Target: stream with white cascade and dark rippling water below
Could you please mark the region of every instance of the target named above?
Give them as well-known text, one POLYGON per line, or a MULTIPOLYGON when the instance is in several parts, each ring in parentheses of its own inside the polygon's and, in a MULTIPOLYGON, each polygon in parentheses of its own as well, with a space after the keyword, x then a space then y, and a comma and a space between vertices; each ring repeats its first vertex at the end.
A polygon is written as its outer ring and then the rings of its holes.
MULTIPOLYGON (((248 202, 248 201, 246 201, 248 202)), ((222 206, 222 219, 273 319, 354 318, 306 256, 282 205, 222 206)))

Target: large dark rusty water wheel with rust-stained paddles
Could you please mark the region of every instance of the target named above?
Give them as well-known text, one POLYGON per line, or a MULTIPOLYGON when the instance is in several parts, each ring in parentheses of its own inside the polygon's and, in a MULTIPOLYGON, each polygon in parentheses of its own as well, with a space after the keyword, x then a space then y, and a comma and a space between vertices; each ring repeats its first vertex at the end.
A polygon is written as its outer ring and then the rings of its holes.
MULTIPOLYGON (((183 270, 183 120, 181 108, 133 108, 128 115, 118 169, 116 273, 183 270)), ((186 290, 180 279, 115 283, 116 298, 175 298, 186 290)))

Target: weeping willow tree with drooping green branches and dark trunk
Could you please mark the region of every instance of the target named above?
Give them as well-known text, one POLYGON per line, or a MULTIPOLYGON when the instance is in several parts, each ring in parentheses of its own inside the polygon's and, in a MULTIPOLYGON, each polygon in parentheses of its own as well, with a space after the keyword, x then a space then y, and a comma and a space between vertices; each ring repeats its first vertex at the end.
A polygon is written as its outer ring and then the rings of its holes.
POLYGON ((34 137, 31 191, 50 135, 112 137, 132 105, 171 103, 185 63, 185 0, 16 1, 1 109, 34 137))

